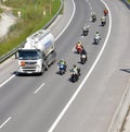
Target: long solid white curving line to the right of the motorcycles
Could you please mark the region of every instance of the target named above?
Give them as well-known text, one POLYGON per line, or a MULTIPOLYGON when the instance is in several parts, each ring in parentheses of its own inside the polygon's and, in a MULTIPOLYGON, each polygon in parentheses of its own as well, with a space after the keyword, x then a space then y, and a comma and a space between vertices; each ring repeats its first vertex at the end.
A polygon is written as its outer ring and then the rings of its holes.
MULTIPOLYGON (((56 120, 53 122, 53 124, 51 125, 51 128, 49 129, 48 132, 53 132, 54 129, 56 128, 56 125, 58 124, 58 122, 61 121, 62 117, 65 115, 65 112, 67 111, 67 109, 69 108, 69 106, 73 104, 73 101, 75 100, 75 98, 77 97, 78 93, 81 91, 82 86, 84 85, 86 81, 88 80, 88 77, 90 76, 90 74, 92 73, 93 69, 95 68, 96 63, 99 62, 105 46, 108 41, 109 35, 110 35, 110 31, 112 31, 112 15, 110 15, 110 10, 107 7, 107 4, 101 0, 101 2, 103 2, 105 4, 105 7, 108 9, 108 15, 109 15, 109 25, 108 25, 108 32, 107 32, 107 36, 106 39, 104 41, 104 45, 98 56, 98 58, 95 59, 93 65, 91 67, 90 71, 87 73, 86 77, 83 79, 83 81, 81 82, 81 84, 79 85, 79 87, 77 88, 77 91, 74 93, 73 97, 70 98, 70 100, 66 104, 65 108, 61 111, 61 113, 58 115, 58 117, 56 118, 56 120)), ((75 4, 75 3, 74 3, 75 4)))

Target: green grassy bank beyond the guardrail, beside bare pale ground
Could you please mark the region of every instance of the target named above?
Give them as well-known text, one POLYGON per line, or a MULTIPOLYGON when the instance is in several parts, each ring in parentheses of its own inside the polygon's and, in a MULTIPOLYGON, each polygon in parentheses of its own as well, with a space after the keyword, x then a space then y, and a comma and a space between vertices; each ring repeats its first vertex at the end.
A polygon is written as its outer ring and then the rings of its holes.
POLYGON ((4 4, 13 8, 13 14, 16 16, 21 12, 21 16, 17 16, 17 23, 0 41, 0 57, 43 27, 60 9, 61 0, 6 0, 4 4))

